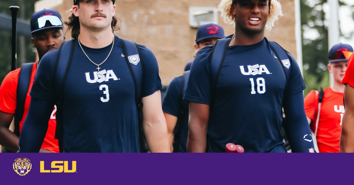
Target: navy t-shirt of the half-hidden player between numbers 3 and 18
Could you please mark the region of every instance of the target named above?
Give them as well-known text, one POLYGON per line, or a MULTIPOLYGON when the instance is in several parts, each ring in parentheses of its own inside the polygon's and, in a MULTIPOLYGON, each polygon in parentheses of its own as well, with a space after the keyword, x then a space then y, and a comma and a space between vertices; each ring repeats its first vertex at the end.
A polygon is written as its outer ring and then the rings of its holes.
MULTIPOLYGON (((185 79, 187 83, 188 79, 185 79)), ((177 140, 176 134, 180 134, 178 152, 187 152, 187 138, 188 138, 188 103, 183 100, 183 93, 181 91, 183 76, 174 78, 170 85, 167 87, 166 96, 164 102, 162 103, 162 111, 169 113, 172 116, 176 116, 178 119, 181 119, 181 130, 179 133, 175 133, 175 142, 177 140), (181 104, 182 101, 182 104, 181 104), (182 107, 181 107, 182 106, 182 107), (183 112, 183 116, 179 113, 183 112)), ((177 127, 177 125, 176 125, 177 127)))

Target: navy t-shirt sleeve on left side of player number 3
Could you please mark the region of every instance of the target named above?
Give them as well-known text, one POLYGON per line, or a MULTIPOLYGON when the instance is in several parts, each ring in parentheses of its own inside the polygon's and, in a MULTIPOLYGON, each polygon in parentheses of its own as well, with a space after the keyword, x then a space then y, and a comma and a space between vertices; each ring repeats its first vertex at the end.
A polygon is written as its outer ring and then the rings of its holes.
POLYGON ((31 97, 42 100, 53 100, 55 98, 53 66, 56 61, 57 51, 49 51, 42 57, 30 91, 31 97))

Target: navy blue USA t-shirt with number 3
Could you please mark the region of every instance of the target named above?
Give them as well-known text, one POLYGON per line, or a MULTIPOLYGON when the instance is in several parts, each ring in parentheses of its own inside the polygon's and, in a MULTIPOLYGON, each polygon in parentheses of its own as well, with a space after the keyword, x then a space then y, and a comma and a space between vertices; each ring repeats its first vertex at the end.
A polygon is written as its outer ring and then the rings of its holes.
MULTIPOLYGON (((72 63, 63 88, 64 152, 140 152, 138 111, 132 74, 117 36, 112 53, 101 66, 89 61, 75 41, 72 63), (105 70, 105 72, 104 72, 105 70)), ((82 45, 82 44, 81 44, 82 45)), ((82 45, 90 59, 99 64, 112 44, 100 49, 82 45)), ((161 90, 156 58, 139 45, 144 62, 142 97, 161 90)), ((53 101, 53 74, 58 50, 41 59, 30 95, 53 101)))

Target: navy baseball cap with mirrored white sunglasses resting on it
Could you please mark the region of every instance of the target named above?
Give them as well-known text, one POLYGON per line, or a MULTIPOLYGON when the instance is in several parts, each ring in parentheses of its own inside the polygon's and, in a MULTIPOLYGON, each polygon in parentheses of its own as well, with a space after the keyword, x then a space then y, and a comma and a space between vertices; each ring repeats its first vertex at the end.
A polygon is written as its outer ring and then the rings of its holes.
POLYGON ((62 17, 59 12, 53 9, 43 9, 34 12, 31 17, 31 32, 49 29, 49 28, 63 28, 62 17))

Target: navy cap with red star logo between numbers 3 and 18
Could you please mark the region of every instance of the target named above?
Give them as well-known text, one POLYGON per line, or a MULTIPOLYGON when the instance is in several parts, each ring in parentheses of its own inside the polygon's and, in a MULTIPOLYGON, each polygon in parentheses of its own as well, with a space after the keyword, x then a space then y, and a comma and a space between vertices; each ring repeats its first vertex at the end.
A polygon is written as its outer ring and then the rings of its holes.
POLYGON ((214 37, 225 38, 223 27, 213 23, 203 24, 199 27, 197 31, 197 36, 195 37, 195 43, 198 43, 202 39, 214 38, 214 37))

